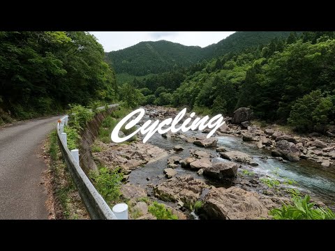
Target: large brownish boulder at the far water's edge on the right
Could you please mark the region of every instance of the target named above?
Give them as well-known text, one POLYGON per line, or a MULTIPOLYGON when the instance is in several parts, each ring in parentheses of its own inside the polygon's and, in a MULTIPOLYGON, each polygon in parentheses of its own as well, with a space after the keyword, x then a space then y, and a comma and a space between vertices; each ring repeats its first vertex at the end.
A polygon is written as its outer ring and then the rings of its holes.
POLYGON ((272 151, 272 155, 274 157, 280 156, 285 160, 299 161, 300 150, 292 142, 288 142, 287 140, 280 140, 276 142, 276 149, 272 151))

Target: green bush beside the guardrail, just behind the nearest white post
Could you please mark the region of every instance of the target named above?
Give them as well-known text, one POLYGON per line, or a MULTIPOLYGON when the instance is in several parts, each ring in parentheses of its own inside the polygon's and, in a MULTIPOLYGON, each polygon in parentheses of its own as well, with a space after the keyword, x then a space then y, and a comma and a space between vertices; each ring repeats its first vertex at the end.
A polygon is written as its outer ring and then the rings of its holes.
POLYGON ((117 199, 119 199, 121 192, 121 181, 123 175, 119 173, 119 168, 110 169, 103 167, 99 169, 99 172, 90 173, 96 190, 100 192, 101 196, 109 204, 113 204, 117 199))

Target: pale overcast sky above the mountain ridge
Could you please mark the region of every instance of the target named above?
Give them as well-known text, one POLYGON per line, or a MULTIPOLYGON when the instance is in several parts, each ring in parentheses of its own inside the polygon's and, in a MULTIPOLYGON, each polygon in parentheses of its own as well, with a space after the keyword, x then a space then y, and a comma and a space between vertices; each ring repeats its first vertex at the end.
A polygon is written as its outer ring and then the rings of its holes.
POLYGON ((206 47, 223 40, 234 31, 89 31, 98 38, 105 52, 121 50, 141 41, 168 40, 181 45, 206 47))

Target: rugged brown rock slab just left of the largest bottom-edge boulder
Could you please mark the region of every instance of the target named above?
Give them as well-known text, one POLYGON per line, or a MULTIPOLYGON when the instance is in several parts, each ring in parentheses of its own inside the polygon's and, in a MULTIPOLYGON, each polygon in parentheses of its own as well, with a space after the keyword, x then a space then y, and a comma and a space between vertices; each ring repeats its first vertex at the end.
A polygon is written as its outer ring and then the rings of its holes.
POLYGON ((194 204, 200 199, 202 190, 208 188, 203 181, 191 175, 175 176, 168 181, 156 185, 155 196, 163 201, 183 201, 184 204, 194 204))

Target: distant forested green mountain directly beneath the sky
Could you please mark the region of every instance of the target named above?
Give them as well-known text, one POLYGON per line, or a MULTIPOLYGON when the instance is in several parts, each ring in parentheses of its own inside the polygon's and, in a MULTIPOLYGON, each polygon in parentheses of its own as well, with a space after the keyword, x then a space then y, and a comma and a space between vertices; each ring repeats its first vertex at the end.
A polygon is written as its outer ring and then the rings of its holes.
POLYGON ((220 42, 201 48, 165 40, 141 42, 124 50, 107 52, 106 60, 117 74, 143 76, 189 67, 203 59, 209 60, 228 52, 265 45, 275 37, 286 38, 288 31, 238 31, 220 42))

